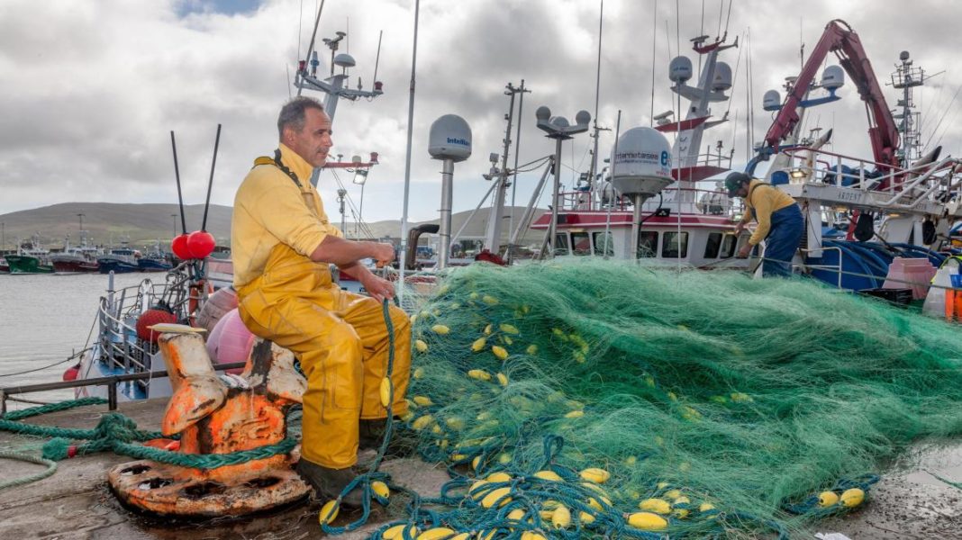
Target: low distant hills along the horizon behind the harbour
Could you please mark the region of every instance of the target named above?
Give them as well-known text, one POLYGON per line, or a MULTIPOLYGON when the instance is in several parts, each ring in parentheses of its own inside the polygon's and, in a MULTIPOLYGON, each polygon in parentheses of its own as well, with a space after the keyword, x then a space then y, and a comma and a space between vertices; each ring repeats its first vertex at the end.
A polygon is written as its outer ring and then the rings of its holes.
MULTIPOLYGON (((232 207, 211 205, 207 216, 207 230, 214 234, 217 243, 221 245, 230 244, 231 234, 231 211, 232 207)), ((505 209, 504 215, 511 213, 512 209, 505 209)), ((524 209, 515 207, 515 220, 520 218, 524 209)), ((538 210, 536 215, 541 215, 544 210, 538 210)), ((0 250, 13 249, 16 238, 27 240, 31 236, 38 234, 41 243, 48 248, 59 248, 63 246, 63 238, 67 235, 71 243, 79 240, 78 230, 80 227, 80 217, 78 213, 83 213, 84 230, 89 237, 98 245, 110 245, 113 239, 114 245, 118 245, 121 240, 130 239, 133 247, 143 247, 151 245, 156 239, 161 240, 162 246, 166 247, 174 233, 176 222, 177 232, 180 232, 180 217, 177 205, 150 204, 114 204, 114 203, 63 203, 42 207, 38 209, 20 210, 6 214, 0 214, 0 223, 3 223, 3 245, 0 250), (171 215, 173 214, 173 215, 171 215)), ((185 207, 187 216, 188 231, 196 230, 200 227, 203 217, 203 205, 189 205, 185 207)), ((461 228, 465 220, 468 219, 469 211, 457 212, 451 216, 452 233, 456 233, 461 228)), ((340 226, 337 216, 331 215, 335 223, 340 226)), ((483 236, 487 228, 488 209, 481 209, 471 220, 468 228, 465 229, 465 236, 483 236)), ((437 223, 435 219, 431 222, 437 223)), ((347 237, 397 237, 400 234, 400 220, 386 220, 368 223, 367 227, 355 228, 351 222, 344 227, 347 237), (355 233, 357 231, 357 233, 355 233), (366 233, 367 232, 367 233, 366 233)), ((412 226, 418 223, 412 223, 412 226)), ((507 239, 509 232, 508 219, 504 220, 502 238, 507 239)), ((541 233, 528 233, 526 238, 530 240, 540 239, 541 233)))

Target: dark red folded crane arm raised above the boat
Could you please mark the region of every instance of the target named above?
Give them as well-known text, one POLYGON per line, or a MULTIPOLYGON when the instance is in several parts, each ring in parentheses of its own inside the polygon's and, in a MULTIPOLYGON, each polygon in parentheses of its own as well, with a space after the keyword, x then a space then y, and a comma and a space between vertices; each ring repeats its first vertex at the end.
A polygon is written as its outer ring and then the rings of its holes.
POLYGON ((896 150, 899 148, 899 130, 895 119, 892 118, 892 113, 885 103, 885 96, 882 95, 882 88, 878 86, 878 81, 875 79, 872 63, 865 54, 865 49, 862 48, 862 41, 848 23, 840 19, 833 20, 825 26, 822 38, 812 50, 812 55, 805 62, 801 72, 798 73, 792 90, 775 116, 772 127, 765 135, 766 145, 777 147, 795 129, 798 123, 798 104, 804 99, 819 66, 830 52, 839 57, 848 77, 858 88, 859 97, 865 102, 874 160, 899 166, 896 156, 896 150))

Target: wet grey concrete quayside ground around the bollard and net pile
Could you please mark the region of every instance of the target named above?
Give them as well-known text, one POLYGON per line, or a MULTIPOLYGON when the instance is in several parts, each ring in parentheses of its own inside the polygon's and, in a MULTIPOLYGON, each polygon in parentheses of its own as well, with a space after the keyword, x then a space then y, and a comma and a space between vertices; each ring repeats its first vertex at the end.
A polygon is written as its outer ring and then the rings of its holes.
MULTIPOLYGON (((120 405, 120 412, 133 418, 141 429, 156 430, 165 400, 120 405)), ((106 405, 88 406, 31 419, 43 425, 92 428, 106 405)), ((0 432, 0 449, 24 445, 23 437, 0 432)), ((161 538, 200 540, 206 538, 258 538, 295 540, 321 535, 317 526, 317 503, 299 503, 289 508, 233 520, 178 522, 131 512, 117 503, 107 487, 106 472, 131 458, 101 453, 62 461, 57 473, 38 482, 0 491, 0 538, 161 538)), ((39 466, 0 460, 0 478, 15 478, 39 470, 39 466)), ((387 460, 382 470, 394 481, 424 496, 438 494, 447 479, 443 468, 417 459, 387 460)), ((949 479, 962 480, 962 443, 949 446, 920 445, 911 459, 897 463, 875 486, 872 499, 844 519, 819 524, 816 530, 846 534, 852 540, 896 540, 906 538, 962 539, 962 490, 934 479, 933 471, 949 479), (909 463, 909 461, 911 461, 909 463)), ((341 538, 365 538, 403 511, 400 504, 372 514, 368 525, 341 538)), ((337 525, 351 521, 350 514, 337 525)))

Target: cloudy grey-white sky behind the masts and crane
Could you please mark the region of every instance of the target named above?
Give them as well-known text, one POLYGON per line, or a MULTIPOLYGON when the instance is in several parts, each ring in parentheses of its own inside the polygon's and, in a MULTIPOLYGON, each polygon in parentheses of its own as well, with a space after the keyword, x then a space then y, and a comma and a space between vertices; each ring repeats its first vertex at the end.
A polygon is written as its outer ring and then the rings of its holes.
MULTIPOLYGON (((747 148, 747 34, 751 36, 754 133, 760 139, 771 115, 761 96, 798 71, 799 40, 811 51, 824 25, 852 25, 884 83, 909 50, 930 73, 945 70, 917 95, 923 133, 952 155, 962 155, 962 68, 957 56, 962 4, 915 0, 734 0, 724 53, 739 64, 728 122, 705 143, 734 142, 736 162, 747 148), (741 51, 741 58, 739 58, 741 51), (955 60, 953 60, 955 59, 955 60)), ((667 65, 682 53, 695 59, 688 39, 716 36, 721 0, 607 0, 601 57, 599 123, 615 128, 648 125, 654 57, 655 113, 670 110, 667 65), (704 17, 702 22, 702 5, 704 17), (652 51, 652 41, 654 51, 652 51), (670 50, 671 49, 671 50, 670 50)), ((594 112, 598 0, 422 0, 418 43, 418 93, 412 156, 412 219, 436 216, 440 163, 427 154, 431 122, 444 113, 464 116, 474 135, 474 155, 459 163, 455 210, 472 209, 489 184, 481 178, 488 155, 501 147, 512 82, 532 90, 521 118, 521 161, 553 151, 534 127, 534 110, 547 105, 570 118, 594 112)), ((722 19, 728 9, 723 7, 722 19)), ((310 39, 316 0, 3 0, 0 2, 0 213, 73 201, 175 202, 169 132, 178 139, 185 197, 203 202, 215 129, 223 125, 212 201, 230 205, 252 160, 276 147, 276 115, 289 97, 298 51, 310 39)), ((411 70, 413 0, 327 0, 318 40, 348 32, 357 60, 351 83, 371 86, 378 32, 384 31, 378 79, 385 94, 374 101, 342 101, 334 126, 335 152, 380 153, 364 202, 367 221, 401 214, 411 70)), ((725 21, 721 20, 722 31, 725 21)), ((326 50, 325 50, 326 52, 326 50)), ((344 52, 344 47, 342 51, 344 52)), ((328 69, 321 55, 321 70, 328 69)), ((895 94, 886 87, 894 106, 895 94)), ((865 110, 849 83, 841 102, 813 110, 809 127, 835 127, 835 147, 867 154, 865 110)), ((727 104, 716 105, 721 114, 727 104)), ((614 135, 603 133, 601 153, 614 135)), ((565 176, 585 170, 590 139, 578 135, 565 148, 565 176)), ((512 150, 513 151, 513 150, 512 150)), ((514 158, 512 157, 512 160, 514 158)), ((348 181, 342 174, 342 180, 348 181)), ((526 201, 535 173, 519 179, 526 201)), ((322 195, 336 217, 334 179, 325 173, 322 195)), ((355 201, 357 186, 349 186, 355 201)), ((348 216, 348 220, 350 220, 348 216)))

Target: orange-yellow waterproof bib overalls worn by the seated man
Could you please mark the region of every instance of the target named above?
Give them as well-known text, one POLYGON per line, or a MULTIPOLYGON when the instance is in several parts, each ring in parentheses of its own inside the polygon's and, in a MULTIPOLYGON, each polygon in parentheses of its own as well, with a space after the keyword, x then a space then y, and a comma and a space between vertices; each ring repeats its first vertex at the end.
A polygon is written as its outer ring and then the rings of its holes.
MULTIPOLYGON (((305 204, 319 215, 314 194, 297 184, 305 204)), ((283 243, 271 250, 264 273, 238 288, 238 300, 244 325, 293 351, 307 376, 301 455, 332 469, 355 464, 359 419, 387 417, 379 393, 389 348, 382 306, 367 296, 343 291, 332 282, 326 263, 304 257, 283 243)), ((398 307, 391 307, 391 318, 392 411, 403 414, 411 368, 411 323, 398 307)))

